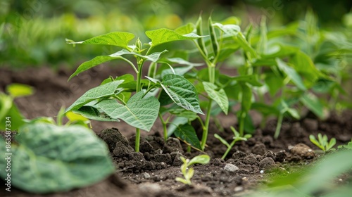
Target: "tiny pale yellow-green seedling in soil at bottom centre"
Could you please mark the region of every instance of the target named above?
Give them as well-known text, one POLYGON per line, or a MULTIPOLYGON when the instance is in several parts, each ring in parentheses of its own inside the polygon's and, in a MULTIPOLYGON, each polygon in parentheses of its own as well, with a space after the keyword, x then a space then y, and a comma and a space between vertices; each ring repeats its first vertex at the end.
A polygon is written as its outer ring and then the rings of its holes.
POLYGON ((184 178, 177 177, 176 181, 177 182, 182 182, 183 184, 188 184, 191 185, 191 178, 193 177, 194 174, 194 169, 193 167, 189 168, 189 166, 194 165, 196 163, 199 164, 207 164, 210 161, 209 155, 198 155, 192 158, 191 160, 186 159, 184 157, 180 157, 183 164, 181 165, 181 172, 183 174, 184 178), (188 170, 187 170, 188 169, 188 170))

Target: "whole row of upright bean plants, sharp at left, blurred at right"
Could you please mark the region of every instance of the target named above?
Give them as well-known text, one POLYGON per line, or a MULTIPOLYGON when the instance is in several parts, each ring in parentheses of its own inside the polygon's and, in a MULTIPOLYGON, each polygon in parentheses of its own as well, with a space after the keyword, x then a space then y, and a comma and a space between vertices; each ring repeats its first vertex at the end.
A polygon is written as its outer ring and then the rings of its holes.
POLYGON ((332 106, 329 101, 320 101, 317 94, 332 94, 335 104, 338 95, 344 94, 339 85, 342 72, 339 65, 352 52, 351 43, 346 37, 318 30, 313 13, 308 12, 304 22, 272 31, 267 29, 265 18, 260 27, 249 25, 244 31, 235 17, 220 23, 208 18, 206 30, 202 22, 199 17, 196 24, 189 23, 176 30, 147 31, 146 36, 151 39, 148 44, 137 39, 129 45, 134 34, 128 32, 111 32, 82 42, 68 40, 70 44, 122 48, 82 63, 70 78, 113 60, 127 62, 137 78, 130 74, 109 77, 65 112, 73 111, 94 120, 127 122, 137 128, 136 151, 139 151, 140 129, 148 132, 159 117, 165 139, 175 134, 189 146, 204 150, 211 115, 235 113, 240 137, 254 131, 250 110, 257 110, 263 117, 275 115, 277 138, 284 116, 298 119, 303 107, 324 117, 324 109, 332 106), (183 53, 163 50, 162 44, 185 40, 193 42, 198 50, 183 50, 183 53), (340 53, 335 53, 337 49, 340 53), (201 55, 206 68, 199 69, 199 63, 188 61, 194 53, 201 55), (237 61, 233 62, 234 59, 237 61), (237 75, 221 73, 222 63, 234 65, 237 75), (142 78, 144 65, 149 66, 146 79, 142 78), (271 97, 270 103, 265 96, 271 97), (232 106, 236 104, 240 108, 233 112, 232 106), (199 116, 203 111, 205 118, 199 116), (190 125, 194 120, 203 128, 201 140, 190 125))

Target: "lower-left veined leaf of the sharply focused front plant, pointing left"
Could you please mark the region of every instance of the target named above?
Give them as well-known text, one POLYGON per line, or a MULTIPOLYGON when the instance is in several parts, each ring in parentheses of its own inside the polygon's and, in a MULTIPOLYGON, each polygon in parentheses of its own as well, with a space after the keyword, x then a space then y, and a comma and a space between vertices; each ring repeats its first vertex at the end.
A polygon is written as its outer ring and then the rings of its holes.
POLYGON ((107 84, 103 84, 99 87, 89 89, 80 98, 75 101, 69 108, 65 110, 67 113, 70 110, 77 110, 84 106, 84 104, 94 101, 97 98, 104 98, 118 94, 122 89, 118 89, 118 86, 122 84, 123 80, 113 81, 107 84))

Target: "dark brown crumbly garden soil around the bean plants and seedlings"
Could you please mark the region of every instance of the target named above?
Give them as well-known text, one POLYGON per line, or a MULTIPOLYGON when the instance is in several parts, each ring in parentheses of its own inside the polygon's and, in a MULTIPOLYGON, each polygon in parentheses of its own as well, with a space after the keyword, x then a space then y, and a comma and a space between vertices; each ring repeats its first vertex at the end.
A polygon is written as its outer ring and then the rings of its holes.
MULTIPOLYGON (((47 68, 20 72, 0 69, 0 89, 4 90, 7 84, 15 82, 30 84, 36 89, 35 94, 15 100, 23 115, 27 118, 54 117, 61 106, 69 106, 104 78, 122 75, 128 70, 96 67, 67 82, 72 72, 64 69, 58 74, 47 68)), ((219 131, 215 124, 210 128, 205 151, 211 160, 208 165, 194 166, 192 186, 175 181, 175 177, 182 177, 180 156, 192 158, 201 152, 187 152, 187 146, 175 138, 163 141, 159 134, 160 122, 156 122, 149 135, 144 132, 141 153, 133 151, 132 127, 123 122, 92 122, 94 131, 108 144, 117 172, 94 186, 45 196, 245 196, 246 192, 268 182, 272 170, 291 172, 291 167, 306 165, 317 158, 309 134, 327 134, 329 138, 337 138, 337 144, 346 144, 352 138, 351 111, 340 115, 332 113, 324 121, 308 113, 303 120, 284 121, 279 139, 272 138, 276 122, 270 120, 265 128, 256 129, 249 141, 238 142, 222 160, 226 147, 213 134, 230 141, 233 134, 229 127, 237 125, 233 116, 221 116, 220 120, 224 131, 219 131)), ((201 130, 197 122, 192 124, 196 130, 201 130)), ((9 193, 4 190, 4 184, 0 184, 0 196, 43 196, 19 189, 9 193)))

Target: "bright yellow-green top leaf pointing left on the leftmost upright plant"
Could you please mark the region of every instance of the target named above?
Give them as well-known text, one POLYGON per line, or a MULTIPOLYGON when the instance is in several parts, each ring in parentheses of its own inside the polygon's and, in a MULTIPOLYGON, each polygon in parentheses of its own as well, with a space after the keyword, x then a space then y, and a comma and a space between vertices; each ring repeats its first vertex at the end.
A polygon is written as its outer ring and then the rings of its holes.
POLYGON ((128 32, 111 32, 97 37, 92 37, 81 42, 68 42, 68 44, 106 44, 120 46, 127 49, 128 43, 134 38, 134 34, 128 32))

